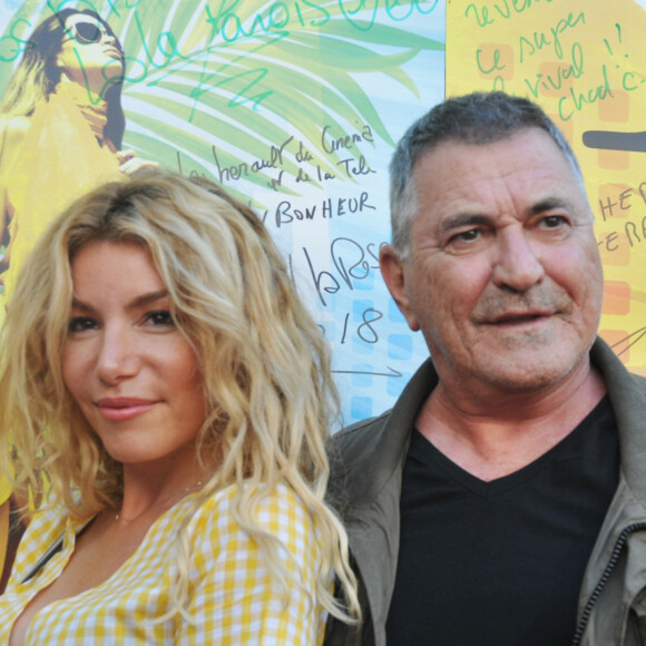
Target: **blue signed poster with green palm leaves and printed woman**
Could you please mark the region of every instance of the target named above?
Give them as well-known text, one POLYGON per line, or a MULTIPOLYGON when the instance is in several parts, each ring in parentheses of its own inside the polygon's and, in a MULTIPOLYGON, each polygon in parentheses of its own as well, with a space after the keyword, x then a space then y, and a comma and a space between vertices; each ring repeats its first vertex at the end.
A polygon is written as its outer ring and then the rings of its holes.
MULTIPOLYGON (((344 422, 389 408, 428 351, 379 273, 390 239, 388 164, 405 128, 443 98, 446 3, 4 0, 4 99, 40 46, 33 30, 66 9, 96 11, 99 32, 114 35, 99 63, 108 107, 56 78, 31 112, 4 105, 3 297, 63 203, 118 176, 125 160, 156 161, 222 183, 263 218, 332 344, 344 422), (120 144, 118 128, 110 134, 119 105, 120 144)), ((100 35, 69 18, 53 27, 82 89, 100 35)), ((56 76, 62 63, 52 60, 56 76)))

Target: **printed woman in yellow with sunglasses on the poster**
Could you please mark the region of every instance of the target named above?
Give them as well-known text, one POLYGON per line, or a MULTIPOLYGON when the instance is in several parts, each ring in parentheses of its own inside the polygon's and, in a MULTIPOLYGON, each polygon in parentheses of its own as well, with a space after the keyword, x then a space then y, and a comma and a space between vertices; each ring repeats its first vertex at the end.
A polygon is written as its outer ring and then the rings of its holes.
POLYGON ((123 78, 123 48, 94 11, 63 9, 29 38, 0 104, 0 281, 7 303, 26 255, 62 208, 149 165, 120 151, 123 78))

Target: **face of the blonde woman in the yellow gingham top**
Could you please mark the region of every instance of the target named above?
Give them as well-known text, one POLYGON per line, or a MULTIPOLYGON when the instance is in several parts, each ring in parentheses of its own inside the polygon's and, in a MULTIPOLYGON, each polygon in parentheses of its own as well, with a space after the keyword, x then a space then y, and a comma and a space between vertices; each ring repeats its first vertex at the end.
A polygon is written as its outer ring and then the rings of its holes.
POLYGON ((71 264, 65 383, 108 453, 124 464, 196 468, 204 383, 147 251, 94 242, 71 264))

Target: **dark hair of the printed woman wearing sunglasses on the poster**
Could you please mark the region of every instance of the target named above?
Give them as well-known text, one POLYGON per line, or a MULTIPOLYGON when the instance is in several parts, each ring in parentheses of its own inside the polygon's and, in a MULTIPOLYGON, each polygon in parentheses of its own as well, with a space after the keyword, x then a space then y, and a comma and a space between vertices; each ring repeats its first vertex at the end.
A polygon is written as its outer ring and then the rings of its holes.
MULTIPOLYGON (((46 18, 29 37, 22 59, 9 80, 0 102, 1 116, 9 119, 29 117, 38 102, 49 99, 60 82, 61 70, 57 67, 56 59, 66 37, 65 22, 76 13, 98 20, 115 38, 117 47, 123 51, 119 39, 98 13, 91 9, 61 9, 46 18)), ((121 148, 126 128, 126 118, 121 107, 121 87, 123 82, 110 84, 104 97, 108 104, 108 121, 104 133, 117 149, 121 148)))

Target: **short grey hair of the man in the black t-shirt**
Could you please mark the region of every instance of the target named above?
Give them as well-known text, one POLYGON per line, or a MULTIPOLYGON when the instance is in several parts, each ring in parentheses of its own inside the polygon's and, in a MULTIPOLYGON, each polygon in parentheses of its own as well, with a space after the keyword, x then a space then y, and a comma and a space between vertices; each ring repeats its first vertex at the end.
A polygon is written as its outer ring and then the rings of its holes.
POLYGON ((528 128, 540 128, 551 137, 586 196, 584 177, 572 149, 538 105, 505 92, 473 92, 447 99, 405 131, 390 164, 392 244, 402 258, 410 252, 410 228, 418 208, 412 174, 420 157, 442 141, 490 144, 528 128))

